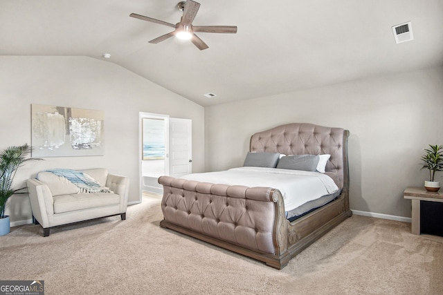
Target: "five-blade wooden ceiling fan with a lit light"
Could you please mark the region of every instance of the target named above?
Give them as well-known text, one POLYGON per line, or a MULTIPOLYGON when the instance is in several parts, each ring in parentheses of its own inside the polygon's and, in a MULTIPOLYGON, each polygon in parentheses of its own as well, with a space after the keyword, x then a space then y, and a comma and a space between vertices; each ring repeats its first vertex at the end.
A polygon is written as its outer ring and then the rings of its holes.
POLYGON ((192 26, 192 21, 194 21, 195 16, 200 8, 200 3, 192 0, 181 1, 177 4, 179 10, 183 11, 183 16, 179 23, 175 25, 172 23, 167 23, 165 21, 160 21, 159 19, 152 19, 151 17, 145 17, 143 15, 137 15, 136 13, 131 13, 129 17, 135 17, 136 19, 142 19, 143 21, 151 21, 152 23, 159 23, 164 26, 169 26, 175 28, 174 31, 168 32, 163 36, 156 39, 152 39, 149 43, 159 43, 165 41, 166 39, 176 36, 179 39, 190 39, 191 42, 199 48, 199 50, 204 50, 209 46, 201 40, 195 32, 219 32, 219 33, 230 33, 235 34, 237 32, 237 26, 192 26))

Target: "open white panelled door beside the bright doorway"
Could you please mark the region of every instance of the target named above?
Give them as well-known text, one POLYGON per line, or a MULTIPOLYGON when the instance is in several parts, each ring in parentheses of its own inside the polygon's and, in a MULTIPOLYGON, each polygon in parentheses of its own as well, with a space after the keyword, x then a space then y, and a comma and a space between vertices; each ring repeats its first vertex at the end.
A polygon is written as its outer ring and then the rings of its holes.
POLYGON ((192 120, 169 118, 169 175, 192 173, 192 120))

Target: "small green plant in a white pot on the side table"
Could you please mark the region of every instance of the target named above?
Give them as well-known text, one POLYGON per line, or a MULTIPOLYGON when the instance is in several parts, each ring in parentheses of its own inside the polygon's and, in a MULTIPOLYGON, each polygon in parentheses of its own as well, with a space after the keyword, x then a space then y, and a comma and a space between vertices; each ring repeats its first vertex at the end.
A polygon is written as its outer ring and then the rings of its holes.
POLYGON ((435 181, 435 172, 443 171, 443 146, 429 144, 428 149, 424 149, 422 156, 422 169, 429 170, 429 180, 424 181, 424 188, 427 191, 438 191, 440 182, 435 181))

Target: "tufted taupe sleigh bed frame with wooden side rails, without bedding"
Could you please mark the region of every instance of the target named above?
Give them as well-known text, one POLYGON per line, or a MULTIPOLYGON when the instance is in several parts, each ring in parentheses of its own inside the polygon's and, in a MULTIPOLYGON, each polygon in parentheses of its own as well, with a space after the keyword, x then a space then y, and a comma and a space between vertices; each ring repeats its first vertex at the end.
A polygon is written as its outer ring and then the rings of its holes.
MULTIPOLYGON (((161 176, 161 227, 210 242, 281 269, 300 251, 352 215, 349 207, 349 131, 286 124, 251 137, 250 151, 330 155, 324 175, 338 187, 332 200, 290 221, 278 187, 248 187, 161 176)), ((286 198, 285 198, 286 199, 286 198)), ((291 219, 292 220, 292 219, 291 219)))

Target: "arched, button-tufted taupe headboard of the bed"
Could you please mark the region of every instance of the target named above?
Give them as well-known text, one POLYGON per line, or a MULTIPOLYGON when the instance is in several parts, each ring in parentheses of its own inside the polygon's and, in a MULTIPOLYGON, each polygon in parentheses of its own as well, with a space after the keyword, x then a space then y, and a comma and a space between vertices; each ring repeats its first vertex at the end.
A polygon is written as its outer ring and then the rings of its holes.
POLYGON ((326 164, 329 175, 341 189, 349 189, 347 137, 349 131, 314 124, 293 123, 252 135, 250 151, 285 155, 322 155, 331 157, 326 164))

